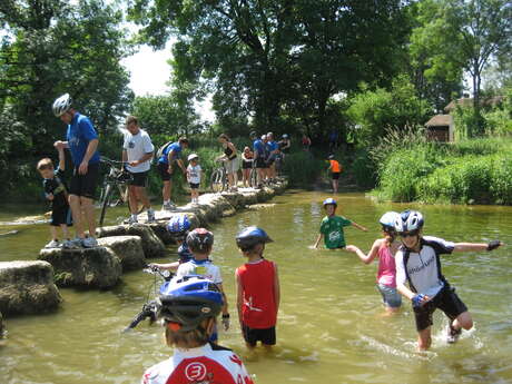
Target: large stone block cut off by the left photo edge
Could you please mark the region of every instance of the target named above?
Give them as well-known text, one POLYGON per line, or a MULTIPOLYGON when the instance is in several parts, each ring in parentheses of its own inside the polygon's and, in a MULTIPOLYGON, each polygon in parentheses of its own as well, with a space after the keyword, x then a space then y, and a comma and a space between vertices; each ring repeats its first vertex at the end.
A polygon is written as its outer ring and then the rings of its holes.
POLYGON ((0 287, 3 315, 45 313, 56 309, 61 302, 53 268, 47 262, 1 262, 0 287))

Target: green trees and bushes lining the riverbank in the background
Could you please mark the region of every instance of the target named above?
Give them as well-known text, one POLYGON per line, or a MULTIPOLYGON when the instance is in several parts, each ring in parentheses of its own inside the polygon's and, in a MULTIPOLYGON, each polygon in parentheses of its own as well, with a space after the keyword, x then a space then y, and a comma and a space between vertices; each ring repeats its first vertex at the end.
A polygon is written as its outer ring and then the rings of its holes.
MULTIPOLYGON (((500 156, 512 132, 511 12, 506 0, 3 1, 0 193, 42 199, 35 164, 56 157, 52 142, 65 127, 50 107, 69 92, 109 157, 120 157, 118 127, 131 114, 157 147, 187 135, 206 177, 220 132, 242 149, 250 145, 249 131, 273 131, 292 138, 285 171, 295 186, 312 186, 334 150, 344 177, 382 198, 510 204, 500 156), (159 49, 169 41, 169 91, 136 97, 122 59, 141 43, 159 49), (472 98, 463 97, 464 78, 472 98), (215 122, 195 108, 207 97, 215 122), (455 145, 382 146, 390 135, 424 137, 424 124, 454 100, 469 100, 450 112, 455 145), (303 134, 311 152, 301 148, 303 134), (493 146, 496 135, 502 149, 459 152, 493 146), (469 181, 476 178, 473 163, 488 175, 477 186, 469 181), (400 173, 417 183, 404 185, 400 173)), ((183 183, 176 188, 184 191, 183 183)), ((150 189, 159 196, 156 174, 150 189)))

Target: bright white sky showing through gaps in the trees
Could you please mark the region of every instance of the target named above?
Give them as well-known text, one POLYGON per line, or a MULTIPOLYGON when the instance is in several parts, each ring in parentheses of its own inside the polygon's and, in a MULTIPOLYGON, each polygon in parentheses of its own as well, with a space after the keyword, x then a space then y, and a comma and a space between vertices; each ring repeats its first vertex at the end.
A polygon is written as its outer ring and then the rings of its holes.
MULTIPOLYGON (((171 42, 157 51, 148 46, 141 46, 137 53, 121 61, 131 73, 129 87, 136 96, 165 95, 170 90, 166 85, 171 71, 167 62, 173 57, 170 48, 171 42)), ((196 105, 196 111, 203 120, 215 120, 209 99, 196 105)))

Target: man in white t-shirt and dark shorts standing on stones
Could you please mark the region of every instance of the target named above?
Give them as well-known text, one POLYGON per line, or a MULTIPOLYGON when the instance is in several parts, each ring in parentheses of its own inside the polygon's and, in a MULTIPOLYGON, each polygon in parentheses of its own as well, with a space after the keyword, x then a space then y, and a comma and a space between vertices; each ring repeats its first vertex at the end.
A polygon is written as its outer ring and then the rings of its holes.
POLYGON ((127 117, 126 128, 128 132, 125 135, 125 144, 122 145, 122 161, 127 163, 126 169, 132 176, 132 180, 128 185, 131 211, 128 223, 138 223, 138 201, 144 205, 142 209, 148 210, 148 223, 152 223, 155 221, 155 211, 151 209, 148 196, 146 195, 146 180, 151 166, 155 147, 149 135, 144 129, 140 129, 135 116, 127 117))

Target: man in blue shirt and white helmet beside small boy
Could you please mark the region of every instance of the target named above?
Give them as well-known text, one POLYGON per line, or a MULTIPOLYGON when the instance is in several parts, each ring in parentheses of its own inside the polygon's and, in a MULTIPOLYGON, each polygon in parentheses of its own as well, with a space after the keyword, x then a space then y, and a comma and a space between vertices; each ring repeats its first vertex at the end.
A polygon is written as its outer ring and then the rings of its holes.
POLYGON ((73 163, 73 173, 69 188, 69 206, 77 238, 72 242, 77 247, 86 248, 98 245, 95 238, 95 190, 99 173, 98 134, 89 118, 80 115, 71 106, 69 93, 55 100, 52 109, 56 117, 68 126, 66 141, 56 141, 57 148, 69 148, 73 163), (83 232, 82 215, 85 213, 89 228, 89 237, 83 232))

